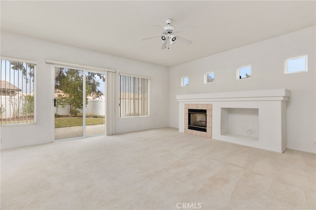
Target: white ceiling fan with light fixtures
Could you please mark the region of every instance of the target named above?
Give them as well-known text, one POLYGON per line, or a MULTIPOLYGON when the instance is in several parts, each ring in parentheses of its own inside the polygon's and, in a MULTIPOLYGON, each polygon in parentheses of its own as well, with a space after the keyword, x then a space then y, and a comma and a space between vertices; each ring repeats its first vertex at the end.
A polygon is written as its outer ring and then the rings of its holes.
POLYGON ((147 39, 151 39, 151 38, 156 38, 156 37, 160 37, 162 39, 161 43, 161 49, 165 49, 166 47, 169 49, 169 45, 174 44, 175 40, 179 40, 182 41, 186 44, 192 44, 192 41, 185 39, 181 36, 178 36, 177 34, 181 33, 181 32, 185 32, 189 29, 192 29, 192 26, 187 26, 178 30, 174 30, 174 28, 172 26, 170 26, 170 23, 172 22, 171 19, 166 19, 166 24, 167 26, 162 27, 159 24, 154 23, 153 25, 156 27, 159 27, 160 29, 162 29, 162 35, 154 35, 154 36, 150 36, 147 38, 143 38, 143 40, 147 40, 147 39))

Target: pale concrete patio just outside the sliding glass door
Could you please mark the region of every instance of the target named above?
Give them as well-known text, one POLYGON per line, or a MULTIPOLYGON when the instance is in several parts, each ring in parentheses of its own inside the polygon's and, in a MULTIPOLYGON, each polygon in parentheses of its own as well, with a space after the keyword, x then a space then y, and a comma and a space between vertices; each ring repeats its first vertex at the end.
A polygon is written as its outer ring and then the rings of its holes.
MULTIPOLYGON (((85 126, 85 136, 105 134, 105 124, 85 126)), ((55 140, 69 139, 83 136, 83 126, 55 128, 55 140)))

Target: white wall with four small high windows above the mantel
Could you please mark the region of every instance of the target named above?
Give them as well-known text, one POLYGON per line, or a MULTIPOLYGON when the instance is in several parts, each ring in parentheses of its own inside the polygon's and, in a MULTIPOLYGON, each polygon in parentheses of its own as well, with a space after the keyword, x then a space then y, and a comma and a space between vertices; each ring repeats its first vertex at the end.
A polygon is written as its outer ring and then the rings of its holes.
MULTIPOLYGON (((220 41, 220 40, 219 40, 220 41)), ((316 27, 277 36, 169 68, 169 126, 178 128, 176 95, 285 88, 287 148, 316 152, 316 27), (308 54, 308 71, 284 74, 284 58, 308 54), (236 79, 237 67, 251 65, 251 79, 236 79), (214 83, 203 83, 206 72, 214 83), (181 77, 189 85, 181 87, 181 77)))

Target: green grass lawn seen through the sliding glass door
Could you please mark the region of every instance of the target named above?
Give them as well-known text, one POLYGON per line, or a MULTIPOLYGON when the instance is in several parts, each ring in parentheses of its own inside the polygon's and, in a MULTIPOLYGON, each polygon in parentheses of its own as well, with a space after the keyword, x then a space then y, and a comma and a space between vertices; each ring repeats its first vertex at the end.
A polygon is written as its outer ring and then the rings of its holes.
MULTIPOLYGON (((85 118, 85 125, 104 124, 104 118, 85 118)), ((55 128, 82 126, 82 117, 55 118, 55 128)))

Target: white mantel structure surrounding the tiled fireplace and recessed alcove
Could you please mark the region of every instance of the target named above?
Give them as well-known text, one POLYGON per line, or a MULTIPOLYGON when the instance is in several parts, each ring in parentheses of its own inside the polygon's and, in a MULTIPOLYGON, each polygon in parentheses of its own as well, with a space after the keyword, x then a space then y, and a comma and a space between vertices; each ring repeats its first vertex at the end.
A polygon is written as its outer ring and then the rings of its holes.
POLYGON ((177 95, 179 132, 185 104, 212 104, 212 139, 283 152, 286 149, 287 89, 177 95))

